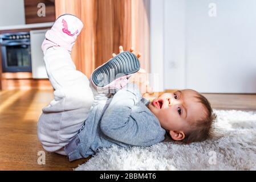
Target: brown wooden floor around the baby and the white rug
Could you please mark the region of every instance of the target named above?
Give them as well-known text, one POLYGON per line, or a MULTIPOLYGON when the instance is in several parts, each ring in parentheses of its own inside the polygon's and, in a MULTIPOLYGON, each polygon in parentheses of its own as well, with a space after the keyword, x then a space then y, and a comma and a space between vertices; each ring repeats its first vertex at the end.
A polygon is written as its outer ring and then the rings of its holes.
MULTIPOLYGON (((204 95, 214 109, 256 110, 256 94, 204 95)), ((68 162, 66 156, 46 152, 46 164, 38 164, 38 152, 44 150, 36 123, 52 98, 52 90, 0 92, 0 170, 72 170, 88 160, 68 162)))

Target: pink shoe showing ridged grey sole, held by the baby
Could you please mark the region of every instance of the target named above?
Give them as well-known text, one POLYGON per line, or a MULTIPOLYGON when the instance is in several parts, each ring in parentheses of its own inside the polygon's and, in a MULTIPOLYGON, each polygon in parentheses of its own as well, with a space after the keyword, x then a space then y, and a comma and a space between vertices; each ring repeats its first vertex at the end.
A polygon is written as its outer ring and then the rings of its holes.
POLYGON ((140 61, 131 52, 125 51, 101 65, 91 75, 92 85, 97 90, 119 90, 128 83, 128 78, 140 70, 140 61))

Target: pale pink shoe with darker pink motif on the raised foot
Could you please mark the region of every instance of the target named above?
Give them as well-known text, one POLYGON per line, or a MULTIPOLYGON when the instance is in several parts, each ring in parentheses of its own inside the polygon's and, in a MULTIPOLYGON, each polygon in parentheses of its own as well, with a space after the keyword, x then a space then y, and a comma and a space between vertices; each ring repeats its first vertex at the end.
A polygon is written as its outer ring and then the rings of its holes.
POLYGON ((72 51, 76 38, 83 28, 82 21, 75 15, 63 14, 55 20, 54 25, 46 32, 46 39, 42 44, 45 51, 53 46, 60 46, 72 51))

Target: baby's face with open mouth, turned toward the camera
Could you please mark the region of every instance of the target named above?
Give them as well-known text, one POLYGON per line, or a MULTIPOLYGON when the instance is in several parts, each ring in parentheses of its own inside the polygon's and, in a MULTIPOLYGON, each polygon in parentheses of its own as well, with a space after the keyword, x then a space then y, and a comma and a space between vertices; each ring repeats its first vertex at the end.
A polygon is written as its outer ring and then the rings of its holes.
POLYGON ((149 104, 148 108, 159 119, 161 127, 168 131, 186 133, 193 122, 204 117, 205 108, 198 102, 194 90, 178 90, 164 93, 149 104))

